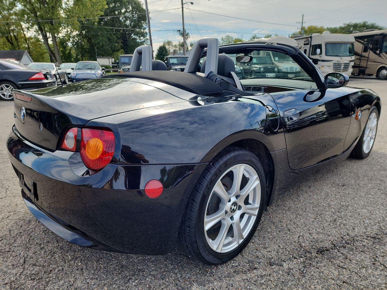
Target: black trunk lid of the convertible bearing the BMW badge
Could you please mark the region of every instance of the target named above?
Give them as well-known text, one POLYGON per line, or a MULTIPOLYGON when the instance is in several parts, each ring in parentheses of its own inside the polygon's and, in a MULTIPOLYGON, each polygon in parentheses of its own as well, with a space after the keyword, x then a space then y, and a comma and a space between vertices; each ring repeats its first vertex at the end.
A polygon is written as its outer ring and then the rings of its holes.
POLYGON ((51 151, 58 148, 63 128, 68 126, 83 126, 91 119, 184 101, 151 85, 114 78, 33 92, 14 90, 15 94, 31 97, 31 102, 14 98, 17 130, 27 140, 51 151))

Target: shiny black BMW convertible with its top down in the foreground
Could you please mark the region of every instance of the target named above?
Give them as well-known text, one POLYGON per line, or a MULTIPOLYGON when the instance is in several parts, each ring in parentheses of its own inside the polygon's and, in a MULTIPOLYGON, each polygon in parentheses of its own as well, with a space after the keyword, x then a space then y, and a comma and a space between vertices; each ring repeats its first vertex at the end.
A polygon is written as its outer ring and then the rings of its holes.
POLYGON ((200 39, 184 72, 140 46, 128 73, 14 90, 9 158, 27 207, 63 239, 134 254, 179 244, 221 264, 291 182, 370 154, 380 98, 348 81, 286 44, 200 39), (293 67, 236 77, 268 55, 293 67))

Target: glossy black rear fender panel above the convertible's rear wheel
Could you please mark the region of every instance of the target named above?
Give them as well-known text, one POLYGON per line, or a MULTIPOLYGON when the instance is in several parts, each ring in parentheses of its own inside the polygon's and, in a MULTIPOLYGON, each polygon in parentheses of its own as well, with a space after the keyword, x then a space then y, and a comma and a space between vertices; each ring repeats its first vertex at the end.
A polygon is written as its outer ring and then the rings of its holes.
POLYGON ((208 162, 239 138, 259 140, 270 152, 286 148, 279 118, 276 125, 267 119, 267 104, 275 106, 269 95, 261 100, 208 98, 204 104, 168 104, 95 119, 87 125, 117 128, 122 164, 208 162), (243 137, 234 138, 241 132, 243 137))

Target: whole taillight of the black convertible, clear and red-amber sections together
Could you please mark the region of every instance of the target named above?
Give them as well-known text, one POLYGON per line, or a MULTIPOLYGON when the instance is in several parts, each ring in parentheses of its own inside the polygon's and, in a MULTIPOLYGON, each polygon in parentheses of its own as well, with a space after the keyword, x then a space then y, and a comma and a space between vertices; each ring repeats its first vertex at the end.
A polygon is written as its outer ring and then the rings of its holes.
MULTIPOLYGON (((60 148, 75 152, 87 168, 100 170, 109 164, 114 155, 115 138, 109 129, 81 128, 80 148, 77 148, 78 128, 70 128, 63 136, 60 148)), ((78 136, 79 138, 79 136, 78 136)))

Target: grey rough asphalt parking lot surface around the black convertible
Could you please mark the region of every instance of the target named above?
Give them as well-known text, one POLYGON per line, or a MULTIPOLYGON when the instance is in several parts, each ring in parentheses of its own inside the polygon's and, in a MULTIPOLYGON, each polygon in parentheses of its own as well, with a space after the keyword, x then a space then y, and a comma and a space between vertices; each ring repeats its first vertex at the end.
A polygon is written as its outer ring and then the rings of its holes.
MULTIPOLYGON (((352 78, 387 104, 387 81, 352 78)), ((6 153, 13 102, 0 101, 0 289, 386 289, 387 119, 373 151, 289 188, 241 255, 203 266, 82 248, 46 229, 21 198, 6 153)), ((112 213, 114 214, 114 213, 112 213)))

